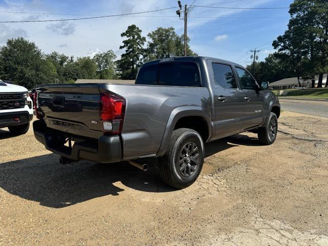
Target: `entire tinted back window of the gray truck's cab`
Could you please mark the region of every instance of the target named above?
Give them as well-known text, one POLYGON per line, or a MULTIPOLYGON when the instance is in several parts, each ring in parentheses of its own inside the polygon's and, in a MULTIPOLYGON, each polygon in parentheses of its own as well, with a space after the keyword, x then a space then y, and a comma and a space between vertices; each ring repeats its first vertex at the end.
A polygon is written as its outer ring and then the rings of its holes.
POLYGON ((199 87, 198 66, 190 62, 149 65, 140 69, 135 84, 199 87))

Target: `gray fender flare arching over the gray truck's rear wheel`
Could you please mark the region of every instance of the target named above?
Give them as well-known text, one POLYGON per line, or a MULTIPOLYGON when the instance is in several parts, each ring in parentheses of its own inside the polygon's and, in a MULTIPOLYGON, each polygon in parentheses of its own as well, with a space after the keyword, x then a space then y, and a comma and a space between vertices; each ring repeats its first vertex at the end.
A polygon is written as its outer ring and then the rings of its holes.
POLYGON ((206 109, 199 107, 199 106, 183 106, 175 108, 168 119, 162 141, 159 147, 159 150, 157 151, 156 156, 162 156, 167 151, 171 135, 173 132, 173 129, 176 125, 176 122, 187 116, 200 116, 205 119, 208 129, 209 129, 209 137, 211 136, 211 116, 207 114, 206 109))

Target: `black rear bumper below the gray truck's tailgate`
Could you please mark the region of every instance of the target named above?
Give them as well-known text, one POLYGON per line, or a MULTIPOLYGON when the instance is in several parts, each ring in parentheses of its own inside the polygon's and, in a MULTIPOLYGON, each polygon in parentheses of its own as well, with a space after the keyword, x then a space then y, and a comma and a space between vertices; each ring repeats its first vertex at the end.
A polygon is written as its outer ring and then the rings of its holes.
POLYGON ((122 159, 119 136, 100 136, 95 140, 85 138, 69 148, 57 140, 58 137, 65 137, 66 133, 47 128, 41 120, 33 122, 33 130, 35 138, 44 144, 47 150, 72 160, 84 159, 111 163, 122 159))

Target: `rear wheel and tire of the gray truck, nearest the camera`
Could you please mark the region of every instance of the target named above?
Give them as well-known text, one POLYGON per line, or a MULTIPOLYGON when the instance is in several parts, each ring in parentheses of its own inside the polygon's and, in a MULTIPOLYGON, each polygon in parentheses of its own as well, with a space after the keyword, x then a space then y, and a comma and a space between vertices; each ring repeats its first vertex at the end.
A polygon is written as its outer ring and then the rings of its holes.
POLYGON ((169 186, 183 189, 197 179, 204 162, 204 144, 198 132, 174 130, 169 148, 159 159, 160 177, 169 186))

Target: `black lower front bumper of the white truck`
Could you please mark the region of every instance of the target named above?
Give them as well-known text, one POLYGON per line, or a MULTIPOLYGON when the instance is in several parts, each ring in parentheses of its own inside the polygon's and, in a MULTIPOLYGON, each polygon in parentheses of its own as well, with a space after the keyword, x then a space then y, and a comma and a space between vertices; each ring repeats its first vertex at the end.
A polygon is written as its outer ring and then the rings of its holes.
POLYGON ((23 125, 30 122, 32 118, 33 114, 27 111, 0 113, 0 128, 23 125), (19 118, 19 120, 15 121, 14 118, 19 118))

